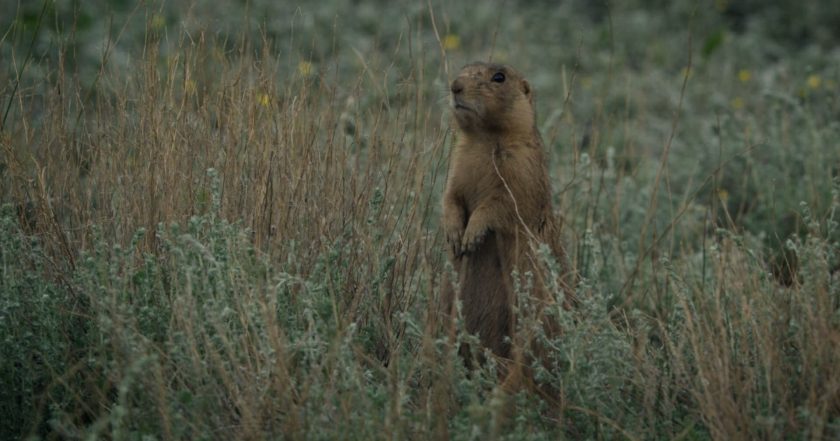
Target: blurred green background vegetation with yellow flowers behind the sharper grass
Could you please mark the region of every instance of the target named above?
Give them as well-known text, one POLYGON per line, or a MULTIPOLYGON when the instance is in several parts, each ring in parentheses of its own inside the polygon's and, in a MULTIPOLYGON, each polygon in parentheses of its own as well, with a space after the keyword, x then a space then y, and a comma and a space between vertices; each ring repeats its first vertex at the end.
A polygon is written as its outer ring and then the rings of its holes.
MULTIPOLYGON (((757 193, 771 182, 776 184, 770 187, 806 185, 798 175, 815 177, 803 163, 806 156, 814 163, 824 163, 821 157, 836 159, 825 157, 826 150, 833 149, 823 144, 824 132, 837 130, 840 91, 840 5, 831 1, 507 1, 445 6, 4 1, 2 6, 14 11, 0 22, 5 30, 0 56, 7 66, 3 104, 12 101, 9 92, 18 76, 18 87, 29 91, 26 96, 43 95, 38 87, 55 79, 59 65, 82 94, 75 106, 113 96, 121 87, 114 78, 136 78, 137 62, 152 43, 163 69, 184 58, 185 47, 209 42, 210 55, 199 60, 183 85, 193 91, 218 80, 222 58, 231 61, 261 51, 272 56, 276 74, 270 81, 278 88, 303 74, 350 96, 353 87, 369 86, 353 81, 360 69, 384 69, 381 84, 374 87, 385 96, 361 94, 361 102, 354 103, 359 109, 407 96, 401 87, 418 57, 431 66, 431 81, 419 87, 440 104, 454 70, 473 59, 492 58, 532 77, 541 97, 542 125, 548 130, 544 136, 555 147, 568 147, 575 135, 589 140, 587 128, 600 122, 593 156, 605 157, 611 148, 621 166, 635 169, 638 161, 658 159, 691 50, 687 117, 675 139, 679 154, 672 159, 681 162, 672 168, 673 191, 689 191, 692 179, 702 179, 719 166, 723 170, 718 196, 723 196, 732 220, 767 240, 785 240, 801 230, 794 219, 799 202, 817 202, 808 198, 819 195, 805 195, 800 188, 762 201, 757 193), (430 6, 438 15, 438 35, 430 6), (24 68, 27 56, 31 60, 24 68), (105 73, 111 75, 107 80, 105 73), (571 99, 564 103, 567 97, 571 99), (768 131, 773 129, 756 121, 757 114, 780 117, 778 113, 790 106, 817 110, 817 120, 790 121, 792 127, 810 126, 793 134, 799 139, 768 131), (814 155, 804 154, 809 149, 814 155), (785 153, 791 150, 799 151, 796 157, 785 153), (786 170, 776 173, 778 168, 786 170), (779 176, 786 171, 796 178, 786 182, 779 176)), ((19 106, 10 110, 9 117, 22 116, 15 113, 19 106)), ((700 197, 712 198, 711 194, 700 197)))

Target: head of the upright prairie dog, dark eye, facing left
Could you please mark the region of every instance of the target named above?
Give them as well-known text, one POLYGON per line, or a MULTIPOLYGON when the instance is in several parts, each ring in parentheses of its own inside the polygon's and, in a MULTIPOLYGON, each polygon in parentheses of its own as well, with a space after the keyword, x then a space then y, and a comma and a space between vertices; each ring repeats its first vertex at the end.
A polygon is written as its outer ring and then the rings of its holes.
POLYGON ((452 112, 464 132, 530 132, 534 128, 531 85, 510 66, 468 64, 450 90, 452 112))

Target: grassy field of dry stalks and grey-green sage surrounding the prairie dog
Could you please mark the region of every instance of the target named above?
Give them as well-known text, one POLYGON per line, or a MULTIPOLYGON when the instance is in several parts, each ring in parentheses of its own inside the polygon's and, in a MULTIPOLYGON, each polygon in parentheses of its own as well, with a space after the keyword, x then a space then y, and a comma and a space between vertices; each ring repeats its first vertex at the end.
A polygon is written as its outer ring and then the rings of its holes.
POLYGON ((554 3, 0 1, 0 439, 840 438, 840 4, 554 3), (581 274, 559 401, 430 313, 489 58, 581 274))

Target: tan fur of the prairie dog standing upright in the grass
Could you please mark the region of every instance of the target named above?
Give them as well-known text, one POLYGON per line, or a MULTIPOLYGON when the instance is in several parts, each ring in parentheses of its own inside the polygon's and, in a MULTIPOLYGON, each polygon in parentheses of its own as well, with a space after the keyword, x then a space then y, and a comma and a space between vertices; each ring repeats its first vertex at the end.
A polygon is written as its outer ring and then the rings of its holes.
MULTIPOLYGON (((485 63, 465 66, 451 91, 458 142, 443 198, 443 227, 466 329, 494 354, 521 365, 521 356, 506 342, 512 339, 514 349, 521 342, 512 335, 513 271, 522 281, 526 272, 534 274, 534 300, 551 303, 546 272, 534 255, 542 242, 567 273, 560 281, 567 304, 574 283, 552 210, 533 93, 513 68, 485 63), (503 82, 493 81, 497 73, 503 82)), ((445 286, 445 306, 451 308, 454 296, 455 290, 445 286)))

